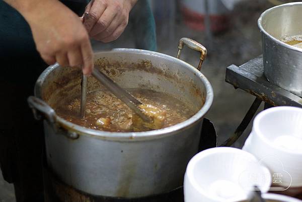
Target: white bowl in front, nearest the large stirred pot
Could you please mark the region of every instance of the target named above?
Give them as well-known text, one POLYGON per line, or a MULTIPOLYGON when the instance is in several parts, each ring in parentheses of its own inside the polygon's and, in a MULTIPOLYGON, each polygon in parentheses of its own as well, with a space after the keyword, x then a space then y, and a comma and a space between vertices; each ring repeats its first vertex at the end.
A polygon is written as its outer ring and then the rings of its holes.
POLYGON ((254 185, 266 192, 270 176, 248 152, 226 147, 208 149, 195 155, 187 166, 185 202, 245 200, 254 185))

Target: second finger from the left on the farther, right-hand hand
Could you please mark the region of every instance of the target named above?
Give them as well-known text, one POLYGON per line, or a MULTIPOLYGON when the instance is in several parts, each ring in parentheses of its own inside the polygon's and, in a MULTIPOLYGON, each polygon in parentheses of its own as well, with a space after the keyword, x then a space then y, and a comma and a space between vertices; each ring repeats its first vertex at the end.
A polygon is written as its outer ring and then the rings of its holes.
MULTIPOLYGON (((97 23, 93 26, 91 29, 89 35, 95 36, 100 32, 103 32, 106 30, 110 24, 112 23, 114 17, 119 13, 120 11, 114 9, 114 7, 108 7, 102 16, 98 19, 97 23)), ((116 28, 116 27, 115 27, 116 28)))

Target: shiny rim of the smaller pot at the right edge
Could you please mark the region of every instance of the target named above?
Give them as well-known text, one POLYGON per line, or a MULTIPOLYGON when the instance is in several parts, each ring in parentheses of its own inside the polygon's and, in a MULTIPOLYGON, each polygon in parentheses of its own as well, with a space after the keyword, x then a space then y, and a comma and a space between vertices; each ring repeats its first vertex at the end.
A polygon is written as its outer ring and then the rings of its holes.
POLYGON ((287 4, 282 4, 282 5, 279 5, 279 6, 275 6, 275 7, 272 7, 270 9, 267 9, 266 11, 264 11, 261 16, 259 17, 258 19, 258 27, 260 29, 260 31, 262 33, 264 33, 266 36, 268 36, 272 41, 274 41, 275 43, 277 43, 278 45, 281 45, 281 46, 285 46, 286 48, 288 49, 291 49, 293 51, 297 51, 297 52, 302 52, 302 49, 301 48, 297 48, 297 47, 294 47, 292 45, 289 45, 287 43, 284 43, 282 42, 281 40, 273 37, 272 35, 270 35, 265 29, 264 27, 262 26, 262 21, 263 19, 266 17, 266 15, 268 15, 270 12, 272 12, 273 10, 275 9, 278 9, 278 8, 282 8, 282 7, 292 7, 292 6, 296 6, 296 5, 299 5, 299 6, 302 6, 302 2, 293 2, 293 3, 287 3, 287 4))

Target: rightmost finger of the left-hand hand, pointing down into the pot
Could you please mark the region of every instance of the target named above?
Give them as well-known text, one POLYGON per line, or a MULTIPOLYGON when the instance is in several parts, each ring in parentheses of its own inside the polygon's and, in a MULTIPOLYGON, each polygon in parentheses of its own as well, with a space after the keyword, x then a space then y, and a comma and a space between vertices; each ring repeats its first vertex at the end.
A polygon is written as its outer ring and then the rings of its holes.
POLYGON ((82 43, 81 45, 82 58, 83 58, 83 74, 90 75, 93 70, 93 51, 90 41, 82 43))

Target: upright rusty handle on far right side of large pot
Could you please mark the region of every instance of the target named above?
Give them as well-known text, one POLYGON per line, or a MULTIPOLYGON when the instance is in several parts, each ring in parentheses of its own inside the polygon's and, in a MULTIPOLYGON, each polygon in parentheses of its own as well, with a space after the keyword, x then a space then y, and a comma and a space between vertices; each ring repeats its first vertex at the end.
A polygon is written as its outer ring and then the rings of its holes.
POLYGON ((198 70, 200 71, 201 70, 201 65, 202 65, 202 62, 205 60, 205 57, 206 57, 206 54, 207 54, 207 50, 206 48, 201 45, 200 43, 192 40, 192 39, 189 39, 189 38, 181 38, 179 40, 179 44, 178 44, 178 53, 177 53, 177 58, 180 59, 180 54, 181 54, 181 50, 183 49, 184 45, 187 45, 189 48, 193 49, 193 50, 196 50, 198 52, 200 52, 200 62, 198 64, 198 70))

